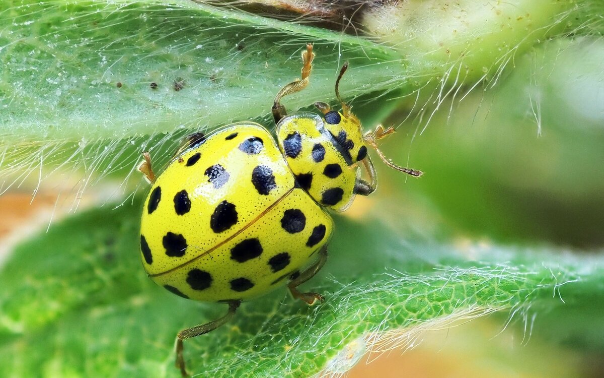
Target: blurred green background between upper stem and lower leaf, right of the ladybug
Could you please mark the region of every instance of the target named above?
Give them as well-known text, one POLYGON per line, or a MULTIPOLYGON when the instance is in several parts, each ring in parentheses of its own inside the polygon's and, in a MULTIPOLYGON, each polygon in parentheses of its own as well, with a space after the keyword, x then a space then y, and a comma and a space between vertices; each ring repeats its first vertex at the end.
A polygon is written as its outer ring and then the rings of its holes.
POLYGON ((422 197, 455 235, 602 247, 603 61, 602 39, 550 41, 516 59, 495 88, 423 117, 395 112, 385 124, 411 120, 388 152, 426 175, 408 182, 381 169, 388 195, 406 183, 404 195, 422 197))

